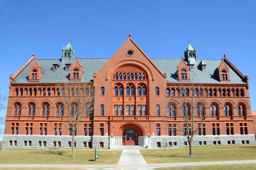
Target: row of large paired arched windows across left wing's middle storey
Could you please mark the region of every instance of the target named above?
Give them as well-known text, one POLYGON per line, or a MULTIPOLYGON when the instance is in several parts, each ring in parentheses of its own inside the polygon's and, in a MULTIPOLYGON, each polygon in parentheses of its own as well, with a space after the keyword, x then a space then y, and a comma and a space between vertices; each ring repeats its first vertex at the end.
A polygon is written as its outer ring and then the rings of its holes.
MULTIPOLYGON (((55 104, 50 105, 48 102, 43 102, 42 104, 36 105, 34 102, 29 102, 28 105, 22 106, 20 102, 15 102, 13 106, 10 107, 12 109, 13 116, 69 116, 69 113, 66 113, 65 110, 68 111, 68 108, 61 102, 56 102, 55 104), (24 111, 24 112, 22 112, 24 111)), ((71 106, 70 113, 75 116, 77 113, 77 105, 73 104, 71 106)), ((92 105, 87 105, 84 108, 84 116, 93 116, 94 108, 92 105)))

